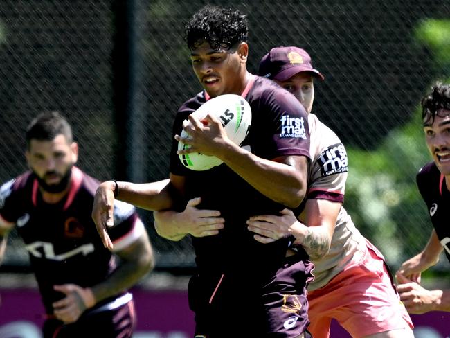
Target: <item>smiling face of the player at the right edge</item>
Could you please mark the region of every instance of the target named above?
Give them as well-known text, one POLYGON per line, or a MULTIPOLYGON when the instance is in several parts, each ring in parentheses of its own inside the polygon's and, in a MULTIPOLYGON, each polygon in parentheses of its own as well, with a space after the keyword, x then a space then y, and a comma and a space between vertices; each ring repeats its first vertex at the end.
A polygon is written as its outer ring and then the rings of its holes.
POLYGON ((442 175, 450 175, 450 110, 441 109, 432 124, 424 125, 424 132, 436 166, 442 175))

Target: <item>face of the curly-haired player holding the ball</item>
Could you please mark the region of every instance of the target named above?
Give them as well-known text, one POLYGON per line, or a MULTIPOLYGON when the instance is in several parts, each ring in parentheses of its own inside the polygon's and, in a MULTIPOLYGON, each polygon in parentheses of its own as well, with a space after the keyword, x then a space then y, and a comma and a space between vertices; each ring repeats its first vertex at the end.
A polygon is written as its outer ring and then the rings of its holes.
POLYGON ((190 54, 192 69, 212 98, 222 94, 241 94, 245 87, 248 46, 213 49, 204 42, 190 54))

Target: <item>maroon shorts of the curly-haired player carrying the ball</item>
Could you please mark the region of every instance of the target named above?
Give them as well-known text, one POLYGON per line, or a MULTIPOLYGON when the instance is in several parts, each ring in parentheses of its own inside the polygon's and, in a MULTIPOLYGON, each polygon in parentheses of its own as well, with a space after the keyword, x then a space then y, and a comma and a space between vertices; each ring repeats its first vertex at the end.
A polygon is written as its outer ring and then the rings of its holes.
POLYGON ((193 276, 189 303, 195 337, 294 338, 307 333, 312 267, 309 260, 291 256, 264 284, 245 272, 193 276))

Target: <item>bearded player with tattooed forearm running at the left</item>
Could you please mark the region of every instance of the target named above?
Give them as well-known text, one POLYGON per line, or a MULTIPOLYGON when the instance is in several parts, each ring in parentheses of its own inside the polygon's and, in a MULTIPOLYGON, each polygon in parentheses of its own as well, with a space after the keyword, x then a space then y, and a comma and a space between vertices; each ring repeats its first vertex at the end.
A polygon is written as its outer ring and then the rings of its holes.
POLYGON ((99 182, 74 166, 78 144, 59 113, 39 114, 26 145, 30 171, 0 188, 0 253, 17 226, 46 311, 44 338, 132 337, 127 289, 154 266, 143 223, 133 206, 118 202, 109 232, 114 255, 105 249, 91 219, 99 182))

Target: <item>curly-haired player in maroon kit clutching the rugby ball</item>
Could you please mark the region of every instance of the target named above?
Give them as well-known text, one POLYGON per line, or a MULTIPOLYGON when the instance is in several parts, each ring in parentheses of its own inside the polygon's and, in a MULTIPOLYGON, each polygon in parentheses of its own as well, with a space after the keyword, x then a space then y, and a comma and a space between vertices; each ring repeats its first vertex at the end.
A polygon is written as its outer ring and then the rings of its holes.
MULTIPOLYGON (((219 211, 227 224, 216 236, 192 238, 197 273, 190 279, 188 292, 190 308, 195 311, 195 336, 309 336, 305 331, 306 286, 312 278, 312 264, 306 253, 289 251, 288 239, 261 244, 246 229, 249 216, 294 208, 305 195, 309 161, 305 109, 287 91, 247 71, 246 15, 206 6, 185 27, 192 69, 205 90, 186 101, 175 118, 170 184, 183 201, 201 197, 199 208, 219 211), (228 139, 212 114, 206 116, 206 124, 191 115, 209 98, 222 94, 241 95, 251 106, 246 149, 228 139), (182 129, 190 134, 189 139, 179 136, 182 129), (177 153, 179 141, 191 148, 177 153), (224 163, 196 172, 179 160, 179 153, 189 152, 213 154, 224 163)), ((100 203, 94 206, 100 212, 93 217, 99 232, 105 234, 105 206, 111 205, 115 187, 111 182, 100 187, 100 203)), ((118 198, 136 202, 139 188, 118 182, 118 198)), ((180 204, 181 210, 185 206, 186 202, 180 204)), ((157 229, 172 240, 188 235, 165 226, 157 229)))

